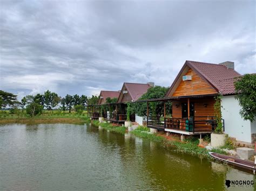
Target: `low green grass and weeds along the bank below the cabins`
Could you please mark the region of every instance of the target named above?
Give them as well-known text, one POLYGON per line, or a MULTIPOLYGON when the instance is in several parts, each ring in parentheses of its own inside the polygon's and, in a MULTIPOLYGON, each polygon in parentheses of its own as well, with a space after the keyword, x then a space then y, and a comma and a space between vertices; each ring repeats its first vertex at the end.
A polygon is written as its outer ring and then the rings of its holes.
MULTIPOLYGON (((122 134, 126 132, 126 128, 124 126, 113 126, 111 123, 99 123, 99 121, 92 121, 92 124, 112 132, 118 132, 122 134)), ((207 158, 210 157, 210 154, 208 154, 209 151, 204 147, 198 146, 199 140, 195 138, 185 139, 184 142, 180 142, 179 140, 169 140, 164 136, 150 133, 149 128, 145 126, 139 126, 137 129, 130 131, 130 133, 136 137, 159 142, 168 150, 192 155, 201 155, 207 158)), ((225 151, 219 148, 214 148, 211 151, 220 154, 227 154, 225 151)))

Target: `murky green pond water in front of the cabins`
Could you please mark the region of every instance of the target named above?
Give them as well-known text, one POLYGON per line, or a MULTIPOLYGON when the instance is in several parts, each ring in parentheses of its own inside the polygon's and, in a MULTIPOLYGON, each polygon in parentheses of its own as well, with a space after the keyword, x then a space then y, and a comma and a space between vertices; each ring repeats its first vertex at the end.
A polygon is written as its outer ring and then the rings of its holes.
POLYGON ((91 125, 0 126, 0 190, 225 190, 226 179, 255 178, 91 125))

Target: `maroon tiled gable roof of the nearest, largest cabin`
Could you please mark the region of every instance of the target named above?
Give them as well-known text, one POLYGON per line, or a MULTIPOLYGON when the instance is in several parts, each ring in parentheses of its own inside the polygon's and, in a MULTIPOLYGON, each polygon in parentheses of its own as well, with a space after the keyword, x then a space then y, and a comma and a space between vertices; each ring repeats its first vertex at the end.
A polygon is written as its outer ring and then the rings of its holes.
POLYGON ((215 63, 197 62, 197 61, 186 61, 181 68, 176 79, 173 81, 172 86, 168 90, 166 97, 170 94, 174 88, 176 82, 180 79, 183 70, 189 67, 208 82, 217 92, 223 95, 234 93, 234 77, 240 76, 234 69, 227 68, 224 65, 215 63), (228 80, 229 79, 229 80, 228 80))

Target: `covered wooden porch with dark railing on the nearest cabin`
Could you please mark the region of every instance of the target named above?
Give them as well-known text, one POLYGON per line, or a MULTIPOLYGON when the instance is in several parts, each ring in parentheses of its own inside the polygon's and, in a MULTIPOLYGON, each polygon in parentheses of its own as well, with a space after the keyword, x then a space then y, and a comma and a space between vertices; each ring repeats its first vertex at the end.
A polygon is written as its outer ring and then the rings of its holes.
MULTIPOLYGON (((214 116, 214 96, 183 96, 145 100, 147 102, 147 127, 161 131, 198 135, 211 133, 217 127, 214 116), (150 111, 151 102, 163 102, 163 114, 150 111), (172 114, 166 114, 167 103, 172 103, 172 114)), ((222 119, 223 130, 224 119, 222 119)))

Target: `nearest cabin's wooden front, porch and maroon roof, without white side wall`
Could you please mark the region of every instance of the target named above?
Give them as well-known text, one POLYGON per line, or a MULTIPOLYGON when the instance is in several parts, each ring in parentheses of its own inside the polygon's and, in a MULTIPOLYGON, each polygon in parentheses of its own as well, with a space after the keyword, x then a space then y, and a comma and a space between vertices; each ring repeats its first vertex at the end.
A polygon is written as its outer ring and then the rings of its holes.
MULTIPOLYGON (((221 81, 240 74, 228 67, 230 62, 220 64, 186 61, 165 96, 172 102, 172 117, 162 122, 148 121, 148 126, 169 132, 194 135, 214 131, 215 96, 225 88, 221 81)), ((159 117, 158 117, 159 120, 159 117)), ((223 120, 223 128, 224 126, 223 120)))

